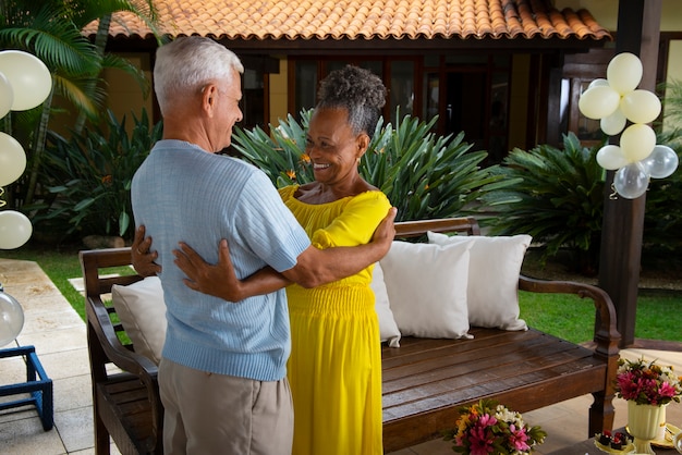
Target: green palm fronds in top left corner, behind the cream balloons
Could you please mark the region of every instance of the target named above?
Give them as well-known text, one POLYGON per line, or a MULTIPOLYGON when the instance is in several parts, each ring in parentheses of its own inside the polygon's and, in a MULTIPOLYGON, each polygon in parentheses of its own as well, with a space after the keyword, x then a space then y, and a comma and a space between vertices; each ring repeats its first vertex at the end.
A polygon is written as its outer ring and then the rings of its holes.
POLYGON ((28 158, 29 173, 25 182, 15 185, 23 192, 16 200, 31 205, 37 198, 48 121, 60 112, 52 109, 53 96, 63 97, 81 113, 76 127, 80 132, 85 115, 97 120, 102 110, 106 99, 106 90, 99 84, 102 69, 123 70, 148 91, 149 84, 142 71, 125 59, 105 52, 111 14, 117 11, 135 14, 155 30, 156 9, 151 0, 12 0, 0 3, 0 49, 33 53, 52 75, 52 93, 40 107, 32 110, 36 112, 8 115, 5 125, 11 126, 5 126, 5 132, 24 139, 28 158), (100 27, 95 42, 90 42, 81 30, 95 20, 100 20, 100 27), (19 130, 20 134, 15 135, 12 130, 19 130))

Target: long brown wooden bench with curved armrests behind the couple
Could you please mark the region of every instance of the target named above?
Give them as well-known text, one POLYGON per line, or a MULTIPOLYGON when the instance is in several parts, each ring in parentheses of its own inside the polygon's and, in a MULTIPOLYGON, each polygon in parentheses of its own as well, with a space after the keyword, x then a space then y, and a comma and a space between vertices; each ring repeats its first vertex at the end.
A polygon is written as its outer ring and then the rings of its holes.
MULTIPOLYGON (((402 222, 395 228, 399 237, 422 236, 427 231, 480 234, 473 218, 402 222)), ((80 257, 96 453, 108 453, 111 435, 123 454, 160 454, 163 416, 157 367, 133 351, 106 297, 113 284, 142 279, 107 275, 108 268, 130 265, 130 248, 81 251, 80 257)), ((453 427, 459 406, 486 397, 523 413, 593 394, 588 436, 612 428, 620 335, 609 296, 596 286, 525 276, 520 276, 519 288, 592 298, 593 346, 579 346, 535 329, 472 328, 472 340, 402 337, 400 347, 382 347, 386 452, 438 438, 441 430, 453 427)))

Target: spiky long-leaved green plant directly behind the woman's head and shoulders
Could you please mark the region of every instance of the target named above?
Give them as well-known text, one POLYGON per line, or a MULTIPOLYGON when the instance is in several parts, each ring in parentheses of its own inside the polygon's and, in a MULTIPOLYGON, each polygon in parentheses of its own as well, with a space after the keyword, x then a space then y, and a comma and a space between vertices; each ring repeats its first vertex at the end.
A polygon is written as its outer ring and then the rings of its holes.
MULTIPOLYGON (((256 127, 236 130, 234 148, 260 168, 277 186, 314 180, 305 153, 305 132, 312 111, 292 115, 271 127, 271 135, 256 127)), ((400 119, 400 115, 397 115, 400 119)), ((422 122, 411 115, 395 127, 379 120, 361 175, 380 188, 398 207, 398 221, 446 218, 468 210, 485 190, 509 184, 492 168, 482 168, 485 151, 470 151, 463 133, 439 137, 430 133, 437 119, 422 122)))

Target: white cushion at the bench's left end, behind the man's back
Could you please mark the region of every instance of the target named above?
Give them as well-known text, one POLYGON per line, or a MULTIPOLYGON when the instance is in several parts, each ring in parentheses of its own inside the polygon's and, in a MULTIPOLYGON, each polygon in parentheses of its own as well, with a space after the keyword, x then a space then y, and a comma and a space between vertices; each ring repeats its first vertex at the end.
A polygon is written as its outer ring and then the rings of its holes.
POLYGON ((159 364, 166 342, 166 303, 161 280, 149 276, 127 286, 111 286, 111 303, 135 352, 159 364))

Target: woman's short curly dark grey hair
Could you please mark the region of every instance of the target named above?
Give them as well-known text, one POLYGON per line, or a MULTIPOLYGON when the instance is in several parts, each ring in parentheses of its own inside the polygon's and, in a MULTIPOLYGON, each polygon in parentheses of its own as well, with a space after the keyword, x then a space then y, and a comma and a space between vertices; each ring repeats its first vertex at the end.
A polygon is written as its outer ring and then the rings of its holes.
POLYGON ((358 66, 346 65, 325 77, 317 93, 316 108, 345 109, 353 134, 369 137, 386 104, 386 87, 379 76, 358 66))

